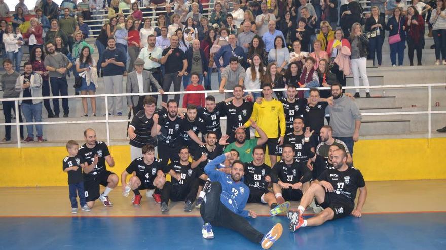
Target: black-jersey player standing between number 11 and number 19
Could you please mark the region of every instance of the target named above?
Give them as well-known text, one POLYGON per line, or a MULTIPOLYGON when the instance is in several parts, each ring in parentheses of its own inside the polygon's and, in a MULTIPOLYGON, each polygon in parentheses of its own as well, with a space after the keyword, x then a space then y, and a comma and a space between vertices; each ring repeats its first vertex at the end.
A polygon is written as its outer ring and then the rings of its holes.
MULTIPOLYGON (((197 117, 197 106, 194 104, 189 104, 187 107, 187 112, 184 115, 184 121, 188 123, 192 132, 194 132, 197 137, 201 133, 203 136, 206 136, 206 126, 204 124, 204 120, 200 117, 197 117)), ((199 145, 189 137, 189 135, 185 132, 181 133, 183 138, 183 144, 189 147, 189 153, 194 156, 195 152, 199 145)), ((198 137, 200 138, 200 137, 198 137)))

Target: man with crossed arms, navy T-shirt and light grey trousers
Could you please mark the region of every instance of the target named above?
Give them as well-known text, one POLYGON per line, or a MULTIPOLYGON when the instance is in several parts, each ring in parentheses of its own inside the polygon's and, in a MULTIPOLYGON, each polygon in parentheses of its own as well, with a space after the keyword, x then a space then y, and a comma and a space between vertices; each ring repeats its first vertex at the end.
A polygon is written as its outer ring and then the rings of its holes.
MULTIPOLYGON (((115 39, 110 37, 107 40, 101 58, 101 68, 104 72, 104 86, 106 94, 122 93, 122 73, 125 71, 126 54, 116 47, 115 39)), ((108 97, 108 115, 113 115, 116 107, 116 114, 122 116, 122 97, 108 97)))

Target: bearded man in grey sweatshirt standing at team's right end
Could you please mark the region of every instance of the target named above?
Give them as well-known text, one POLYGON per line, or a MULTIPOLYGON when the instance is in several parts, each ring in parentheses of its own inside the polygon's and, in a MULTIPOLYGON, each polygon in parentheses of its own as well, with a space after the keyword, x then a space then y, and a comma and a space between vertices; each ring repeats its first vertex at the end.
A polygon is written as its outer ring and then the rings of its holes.
POLYGON ((331 95, 334 105, 327 109, 330 114, 330 126, 333 128, 333 137, 342 140, 353 156, 353 145, 359 140, 361 112, 351 98, 342 94, 341 84, 331 85, 331 95))

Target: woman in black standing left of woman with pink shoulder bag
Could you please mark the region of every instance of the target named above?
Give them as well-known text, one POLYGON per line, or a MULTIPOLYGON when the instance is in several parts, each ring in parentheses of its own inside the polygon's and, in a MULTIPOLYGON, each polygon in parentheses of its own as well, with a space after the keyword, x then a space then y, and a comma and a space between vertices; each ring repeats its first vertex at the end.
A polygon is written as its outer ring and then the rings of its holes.
POLYGON ((367 18, 365 21, 365 33, 372 34, 368 38, 369 41, 369 59, 373 61, 375 66, 375 52, 377 56, 378 67, 382 63, 382 47, 385 38, 386 31, 386 20, 380 15, 380 10, 378 7, 371 7, 371 17, 367 18), (371 32, 371 33, 370 33, 371 32))

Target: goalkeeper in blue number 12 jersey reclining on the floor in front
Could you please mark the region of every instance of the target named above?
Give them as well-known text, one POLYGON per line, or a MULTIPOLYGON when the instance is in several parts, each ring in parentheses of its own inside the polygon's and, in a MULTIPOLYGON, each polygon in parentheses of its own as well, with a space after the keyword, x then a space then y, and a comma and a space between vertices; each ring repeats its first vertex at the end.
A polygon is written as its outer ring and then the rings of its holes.
POLYGON ((212 239, 214 237, 212 224, 237 231, 250 241, 260 243, 262 248, 268 249, 282 235, 282 225, 277 223, 264 235, 245 219, 247 217, 256 218, 257 214, 252 210, 244 209, 248 201, 249 187, 240 181, 244 174, 243 163, 238 160, 234 161, 231 175, 217 169, 220 167, 220 163, 229 156, 230 152, 222 154, 204 168, 212 183, 200 207, 200 214, 204 220, 203 238, 212 239))

